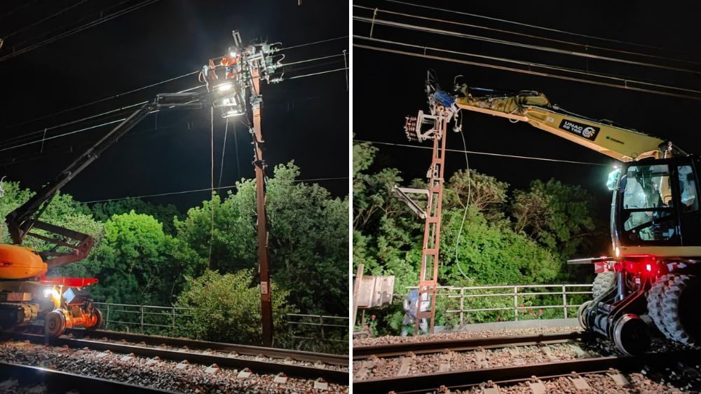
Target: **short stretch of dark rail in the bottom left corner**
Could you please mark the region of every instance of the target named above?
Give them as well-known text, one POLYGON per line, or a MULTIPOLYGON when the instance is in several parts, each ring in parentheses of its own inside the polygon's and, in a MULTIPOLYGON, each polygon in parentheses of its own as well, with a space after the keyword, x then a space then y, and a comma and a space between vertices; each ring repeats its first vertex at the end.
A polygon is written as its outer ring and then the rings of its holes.
POLYGON ((41 385, 48 393, 174 393, 144 386, 136 386, 120 381, 111 381, 94 376, 83 376, 69 372, 34 367, 31 365, 14 364, 0 361, 0 380, 17 379, 20 386, 41 385))

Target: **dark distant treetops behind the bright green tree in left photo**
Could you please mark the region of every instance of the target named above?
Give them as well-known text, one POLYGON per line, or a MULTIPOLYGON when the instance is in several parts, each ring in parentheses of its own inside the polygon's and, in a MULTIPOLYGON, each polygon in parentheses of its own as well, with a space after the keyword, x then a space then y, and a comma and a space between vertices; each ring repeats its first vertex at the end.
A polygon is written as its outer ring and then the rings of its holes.
POLYGON ((107 222, 112 215, 129 213, 132 210, 137 213, 151 215, 158 220, 158 222, 163 224, 163 231, 170 235, 175 235, 173 219, 181 216, 181 213, 175 208, 175 205, 152 204, 141 198, 125 198, 124 200, 95 203, 90 207, 90 210, 93 212, 95 219, 100 222, 107 222))

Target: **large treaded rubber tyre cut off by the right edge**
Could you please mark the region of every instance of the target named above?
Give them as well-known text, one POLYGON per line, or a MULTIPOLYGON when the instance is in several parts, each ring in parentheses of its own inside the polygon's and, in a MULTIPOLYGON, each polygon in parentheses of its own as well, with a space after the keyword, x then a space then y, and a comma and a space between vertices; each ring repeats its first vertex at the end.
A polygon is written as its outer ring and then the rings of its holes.
POLYGON ((701 340, 701 280, 693 275, 675 275, 662 287, 662 324, 669 338, 686 345, 701 340))

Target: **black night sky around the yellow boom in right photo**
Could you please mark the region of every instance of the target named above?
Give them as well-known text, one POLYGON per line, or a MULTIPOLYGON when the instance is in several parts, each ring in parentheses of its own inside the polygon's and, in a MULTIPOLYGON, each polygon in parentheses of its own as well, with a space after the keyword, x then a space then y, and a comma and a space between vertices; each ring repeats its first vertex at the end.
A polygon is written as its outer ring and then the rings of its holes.
MULTIPOLYGON (((407 0, 409 1, 409 0, 407 0)), ((418 1, 411 1, 419 3, 418 1)), ((620 41, 632 41, 655 48, 630 46, 595 39, 584 39, 558 32, 543 32, 529 27, 509 25, 496 20, 484 20, 468 15, 456 15, 426 8, 415 8, 382 0, 356 0, 354 5, 398 11, 428 18, 441 18, 456 22, 484 25, 498 29, 508 29, 525 34, 546 36, 551 39, 576 41, 595 46, 606 46, 618 50, 634 50, 662 59, 648 61, 676 67, 701 71, 699 64, 673 62, 668 57, 701 61, 697 51, 701 39, 701 30, 694 15, 684 13, 678 7, 666 8, 659 3, 654 5, 639 2, 587 2, 563 1, 452 1, 431 2, 433 6, 442 6, 451 10, 502 18, 515 22, 539 25, 566 32, 576 32, 591 36, 601 36, 620 41)), ((372 11, 355 8, 353 15, 372 18, 372 11)), ((387 18, 378 13, 377 18, 387 18)), ((557 48, 581 50, 573 46, 548 43, 536 39, 519 38, 509 34, 485 32, 480 29, 446 25, 435 22, 417 22, 393 17, 405 23, 421 23, 430 27, 453 31, 491 36, 496 39, 521 41, 524 43, 554 46, 557 48)), ((369 24, 353 21, 353 34, 369 34, 369 24)), ((699 89, 699 74, 689 74, 662 69, 639 67, 632 64, 604 62, 602 60, 585 60, 582 57, 545 53, 532 49, 514 48, 496 43, 482 43, 470 39, 447 37, 410 30, 397 30, 390 27, 374 26, 376 39, 417 43, 421 46, 433 46, 458 50, 461 52, 481 53, 484 55, 508 57, 586 69, 608 74, 622 74, 634 79, 662 81, 684 88, 699 89)), ((354 43, 367 43, 354 39, 354 43)), ((397 47, 394 47, 397 48, 397 47)), ((640 60, 640 57, 621 53, 592 52, 626 59, 640 60)), ((701 111, 701 101, 640 93, 631 90, 593 86, 584 83, 550 79, 543 76, 517 74, 496 69, 456 64, 440 60, 427 60, 407 55, 380 53, 374 50, 354 48, 354 91, 355 137, 361 140, 374 140, 409 144, 404 136, 404 116, 416 114, 418 109, 426 110, 426 95, 423 93, 426 70, 435 69, 445 90, 451 90, 453 77, 463 74, 466 83, 474 87, 499 88, 505 90, 538 90, 550 98, 551 102, 564 109, 583 114, 591 118, 606 118, 641 130, 645 133, 672 140, 681 149, 690 153, 697 152, 701 140, 695 117, 701 111), (369 98, 374 97, 369 105, 369 98), (378 112, 379 111, 379 112, 378 112), (381 115, 379 115, 381 113, 381 115), (358 121, 359 116, 372 117, 372 121, 358 121)), ((464 111, 463 111, 464 112, 464 111)), ((468 150, 488 151, 500 154, 524 156, 541 156, 592 163, 613 164, 615 161, 607 156, 597 154, 584 147, 562 140, 526 123, 509 123, 503 118, 494 118, 484 114, 465 112, 464 125, 468 150)), ((415 144, 411 142, 411 144, 415 144)), ((430 146, 429 142, 424 143, 430 146)), ((458 134, 448 135, 447 145, 453 149, 463 149, 458 134)), ((378 146, 380 156, 375 169, 382 166, 400 168, 405 179, 426 177, 430 164, 430 151, 407 149, 403 147, 378 146)), ((566 163, 546 163, 514 158, 496 158, 489 156, 470 156, 470 167, 479 172, 493 175, 509 182, 513 187, 525 188, 532 179, 547 180, 551 177, 562 182, 578 184, 590 191, 601 207, 599 216, 606 220, 610 192, 606 189, 606 175, 611 168, 597 165, 578 165, 566 163)), ((462 154, 447 156, 447 177, 454 170, 465 168, 462 154)))

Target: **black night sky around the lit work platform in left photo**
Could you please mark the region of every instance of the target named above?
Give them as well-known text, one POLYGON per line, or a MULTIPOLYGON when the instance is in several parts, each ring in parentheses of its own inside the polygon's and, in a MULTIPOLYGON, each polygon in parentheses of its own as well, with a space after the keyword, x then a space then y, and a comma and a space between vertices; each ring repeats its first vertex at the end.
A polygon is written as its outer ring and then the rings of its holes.
MULTIPOLYGON (((71 1, 3 1, 0 6, 0 36, 7 37, 64 8, 71 1), (26 4, 22 6, 22 4, 26 4)), ((108 10, 139 4, 130 0, 108 10)), ((37 36, 121 4, 120 1, 90 0, 29 27, 6 39, 0 57, 38 42, 37 36), (27 41, 27 43, 22 43, 27 41)), ((0 61, 2 106, 0 149, 8 138, 27 135, 63 122, 152 100, 156 93, 169 93, 198 85, 189 76, 137 93, 107 100, 59 116, 30 121, 103 97, 163 81, 200 69, 210 57, 224 54, 232 45, 231 30, 238 29, 244 43, 253 39, 280 41, 282 46, 332 39, 348 35, 348 8, 342 2, 285 1, 185 1, 161 0, 121 15, 90 29, 0 61)), ((62 30, 60 30, 62 31, 62 30)), ((53 34, 55 36, 55 34, 53 34)), ((50 36, 50 35, 49 35, 50 36)), ((283 50, 284 62, 296 62, 341 54, 348 39, 283 50)), ((286 76, 302 75, 343 67, 343 57, 290 66, 286 76), (311 67, 314 66, 314 67, 311 67)), ((264 97, 263 136, 265 158, 272 166, 294 161, 301 178, 348 176, 348 92, 343 72, 261 85, 264 97)), ((215 113, 216 116, 216 113, 215 113)), ((48 132, 66 133, 118 116, 86 121, 48 132)), ((250 135, 241 123, 229 124, 222 185, 240 177, 253 177, 250 135), (238 142, 239 163, 236 163, 238 142)), ((1 175, 37 189, 86 149, 108 128, 97 128, 71 137, 0 151, 1 175), (74 153, 71 153, 73 151, 74 153), (15 160, 15 164, 7 165, 15 160)), ((52 134, 53 133, 53 134, 52 134)), ((39 135, 41 137, 41 134, 39 135)), ((36 137, 34 137, 36 138, 36 137)), ((224 142, 224 121, 215 118, 215 186, 224 142)), ((347 179, 320 182, 334 196, 348 194, 347 179)), ((149 116, 100 159, 69 183, 64 191, 81 201, 163 193, 210 186, 210 112, 182 111, 149 116), (190 127, 188 127, 188 123, 190 127), (158 130, 153 130, 158 125, 158 130)), ((207 192, 163 198, 155 203, 176 203, 185 209, 207 198, 207 192)))

